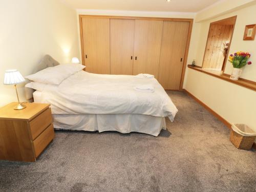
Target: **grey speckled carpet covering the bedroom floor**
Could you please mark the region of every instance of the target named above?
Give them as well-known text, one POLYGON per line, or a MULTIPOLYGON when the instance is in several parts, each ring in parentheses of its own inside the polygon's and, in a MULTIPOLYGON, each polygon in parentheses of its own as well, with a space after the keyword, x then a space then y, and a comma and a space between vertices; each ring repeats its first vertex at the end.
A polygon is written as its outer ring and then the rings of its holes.
POLYGON ((168 94, 179 112, 159 137, 57 131, 36 163, 0 161, 0 191, 256 191, 256 153, 185 93, 168 94))

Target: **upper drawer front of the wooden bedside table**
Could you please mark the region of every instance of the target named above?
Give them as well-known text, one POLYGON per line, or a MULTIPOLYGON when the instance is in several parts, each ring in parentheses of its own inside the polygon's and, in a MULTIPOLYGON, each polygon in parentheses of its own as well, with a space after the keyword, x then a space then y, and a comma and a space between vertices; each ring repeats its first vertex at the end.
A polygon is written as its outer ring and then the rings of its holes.
POLYGON ((51 123, 52 112, 51 109, 48 108, 29 123, 33 140, 35 140, 35 138, 38 137, 38 135, 40 135, 51 123))

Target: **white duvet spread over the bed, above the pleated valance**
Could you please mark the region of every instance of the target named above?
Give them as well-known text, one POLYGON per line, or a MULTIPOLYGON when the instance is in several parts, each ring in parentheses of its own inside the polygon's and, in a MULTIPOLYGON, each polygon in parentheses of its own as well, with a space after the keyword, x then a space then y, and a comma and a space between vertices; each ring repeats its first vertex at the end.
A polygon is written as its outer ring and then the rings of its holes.
POLYGON ((41 102, 50 103, 53 114, 144 114, 173 121, 178 112, 155 78, 84 71, 71 75, 59 86, 45 86, 41 102), (134 89, 143 84, 151 84, 154 92, 134 89))

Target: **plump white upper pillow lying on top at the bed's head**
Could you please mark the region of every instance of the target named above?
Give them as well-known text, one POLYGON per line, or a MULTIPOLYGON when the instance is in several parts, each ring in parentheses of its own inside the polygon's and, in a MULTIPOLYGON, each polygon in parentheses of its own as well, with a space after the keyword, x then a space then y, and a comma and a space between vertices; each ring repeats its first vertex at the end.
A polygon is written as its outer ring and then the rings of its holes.
POLYGON ((25 78, 36 82, 58 85, 64 79, 68 78, 69 76, 75 74, 78 71, 81 71, 84 68, 85 66, 78 63, 61 64, 55 67, 49 67, 44 70, 38 71, 35 74, 26 76, 25 78))

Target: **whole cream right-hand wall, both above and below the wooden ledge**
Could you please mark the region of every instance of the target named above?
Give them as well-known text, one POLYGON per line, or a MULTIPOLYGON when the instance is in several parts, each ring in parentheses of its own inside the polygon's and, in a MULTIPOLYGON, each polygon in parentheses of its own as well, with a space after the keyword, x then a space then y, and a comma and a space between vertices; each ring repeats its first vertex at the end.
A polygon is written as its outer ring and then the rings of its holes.
MULTIPOLYGON (((210 8, 209 13, 214 12, 214 10, 219 10, 220 6, 221 5, 217 5, 216 7, 210 8)), ((252 65, 245 66, 242 77, 256 81, 256 39, 253 41, 243 40, 245 25, 256 24, 256 5, 249 5, 248 7, 242 6, 241 9, 235 10, 236 11, 225 13, 221 16, 211 18, 210 20, 203 20, 202 22, 197 23, 199 29, 194 30, 199 32, 199 37, 197 37, 197 42, 191 45, 190 48, 197 49, 195 55, 197 65, 202 66, 209 24, 216 20, 237 15, 230 53, 236 51, 248 51, 252 54, 250 58, 252 65)), ((207 13, 205 14, 207 18, 207 13)), ((202 17, 201 14, 199 16, 202 17)), ((198 19, 196 18, 196 20, 198 19)), ((232 66, 229 62, 226 66, 225 73, 230 74, 232 66)), ((228 122, 246 123, 256 131, 255 91, 193 69, 187 69, 184 88, 228 122)))

